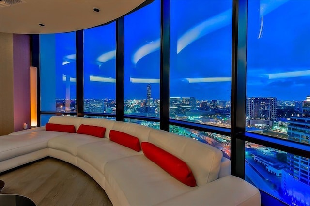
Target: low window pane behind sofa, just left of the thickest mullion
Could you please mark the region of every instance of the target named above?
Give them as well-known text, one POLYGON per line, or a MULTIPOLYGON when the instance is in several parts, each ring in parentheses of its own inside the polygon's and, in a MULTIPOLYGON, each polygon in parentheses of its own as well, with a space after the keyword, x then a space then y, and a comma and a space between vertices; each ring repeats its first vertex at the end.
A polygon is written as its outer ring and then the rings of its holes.
POLYGON ((223 152, 223 156, 230 159, 231 156, 231 139, 229 136, 217 133, 204 132, 200 130, 179 127, 175 125, 169 126, 169 132, 193 138, 205 144, 219 148, 223 152))

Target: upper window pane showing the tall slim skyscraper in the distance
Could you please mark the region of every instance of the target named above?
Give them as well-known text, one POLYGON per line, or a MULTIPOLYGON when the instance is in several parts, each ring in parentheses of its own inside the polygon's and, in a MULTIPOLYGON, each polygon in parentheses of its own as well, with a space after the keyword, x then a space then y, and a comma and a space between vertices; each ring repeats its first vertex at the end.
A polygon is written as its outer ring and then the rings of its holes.
POLYGON ((159 117, 160 0, 124 17, 124 114, 159 117))

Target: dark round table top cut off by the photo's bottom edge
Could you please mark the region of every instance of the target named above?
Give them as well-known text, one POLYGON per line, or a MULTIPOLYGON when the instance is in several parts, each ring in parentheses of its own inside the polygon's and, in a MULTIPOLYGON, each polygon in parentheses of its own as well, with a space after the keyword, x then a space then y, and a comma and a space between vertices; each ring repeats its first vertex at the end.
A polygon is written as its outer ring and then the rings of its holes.
POLYGON ((28 197, 18 194, 0 194, 0 206, 36 206, 28 197))

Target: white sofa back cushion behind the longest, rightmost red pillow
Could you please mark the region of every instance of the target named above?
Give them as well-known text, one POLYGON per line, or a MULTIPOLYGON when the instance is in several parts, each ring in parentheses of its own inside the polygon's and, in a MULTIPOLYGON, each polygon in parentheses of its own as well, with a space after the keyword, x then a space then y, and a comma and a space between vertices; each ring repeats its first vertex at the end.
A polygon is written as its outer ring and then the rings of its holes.
POLYGON ((216 147, 163 130, 152 130, 148 142, 186 162, 198 186, 218 178, 223 153, 216 147))

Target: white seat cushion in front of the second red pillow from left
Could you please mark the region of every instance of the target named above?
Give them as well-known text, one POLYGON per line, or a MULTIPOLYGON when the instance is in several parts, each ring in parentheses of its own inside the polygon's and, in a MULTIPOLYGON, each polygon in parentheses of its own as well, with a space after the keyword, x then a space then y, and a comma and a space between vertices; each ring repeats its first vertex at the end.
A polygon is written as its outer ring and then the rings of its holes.
POLYGON ((50 139, 48 141, 48 147, 68 152, 74 156, 77 156, 79 146, 102 140, 104 140, 104 138, 98 138, 86 134, 66 134, 50 139))

